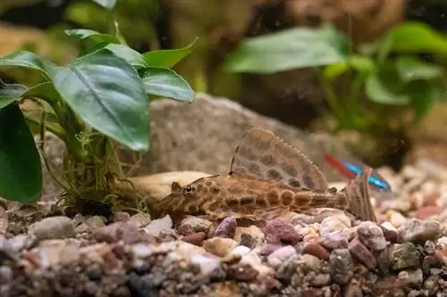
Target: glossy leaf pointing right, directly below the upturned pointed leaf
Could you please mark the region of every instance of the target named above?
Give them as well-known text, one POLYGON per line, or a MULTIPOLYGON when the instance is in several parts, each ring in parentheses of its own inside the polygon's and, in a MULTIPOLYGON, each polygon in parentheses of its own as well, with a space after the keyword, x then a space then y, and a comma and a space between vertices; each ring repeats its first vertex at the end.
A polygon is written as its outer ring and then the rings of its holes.
POLYGON ((173 70, 148 67, 142 77, 148 95, 192 102, 194 91, 190 84, 173 70))

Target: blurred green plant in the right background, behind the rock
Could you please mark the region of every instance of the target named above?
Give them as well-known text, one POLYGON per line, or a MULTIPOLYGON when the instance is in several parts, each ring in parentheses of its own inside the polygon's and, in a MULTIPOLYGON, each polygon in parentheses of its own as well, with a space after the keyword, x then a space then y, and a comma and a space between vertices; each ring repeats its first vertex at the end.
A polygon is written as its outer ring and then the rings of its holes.
POLYGON ((446 98, 443 63, 425 62, 418 54, 445 58, 447 37, 405 22, 353 51, 348 37, 325 24, 246 39, 225 67, 257 74, 312 68, 335 120, 333 132, 384 137, 407 132, 446 98))

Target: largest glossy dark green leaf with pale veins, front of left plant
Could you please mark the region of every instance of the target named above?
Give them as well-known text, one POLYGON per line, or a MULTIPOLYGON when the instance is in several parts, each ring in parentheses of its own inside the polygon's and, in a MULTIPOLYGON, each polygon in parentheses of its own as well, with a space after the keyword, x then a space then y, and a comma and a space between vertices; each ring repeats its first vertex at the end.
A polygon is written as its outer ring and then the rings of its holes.
POLYGON ((148 151, 148 96, 129 63, 100 51, 51 75, 57 92, 82 120, 135 151, 148 151))

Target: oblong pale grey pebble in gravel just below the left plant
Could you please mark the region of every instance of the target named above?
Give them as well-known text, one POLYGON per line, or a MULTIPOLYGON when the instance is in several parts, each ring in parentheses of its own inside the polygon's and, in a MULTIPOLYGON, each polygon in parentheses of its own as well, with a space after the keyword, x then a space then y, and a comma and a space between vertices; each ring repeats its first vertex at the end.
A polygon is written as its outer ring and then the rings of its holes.
POLYGON ((29 235, 35 235, 39 241, 45 239, 63 239, 75 235, 72 219, 67 217, 50 217, 32 224, 29 235))

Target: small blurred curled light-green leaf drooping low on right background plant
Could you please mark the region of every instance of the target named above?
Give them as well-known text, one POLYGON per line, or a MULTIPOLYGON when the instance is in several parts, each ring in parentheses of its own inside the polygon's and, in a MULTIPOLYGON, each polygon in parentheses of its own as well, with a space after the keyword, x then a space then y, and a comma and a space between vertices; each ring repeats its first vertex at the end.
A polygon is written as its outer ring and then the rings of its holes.
POLYGON ((409 103, 409 96, 401 94, 392 84, 395 81, 385 81, 380 77, 382 73, 376 73, 367 78, 366 92, 368 98, 375 103, 406 105, 409 103))

